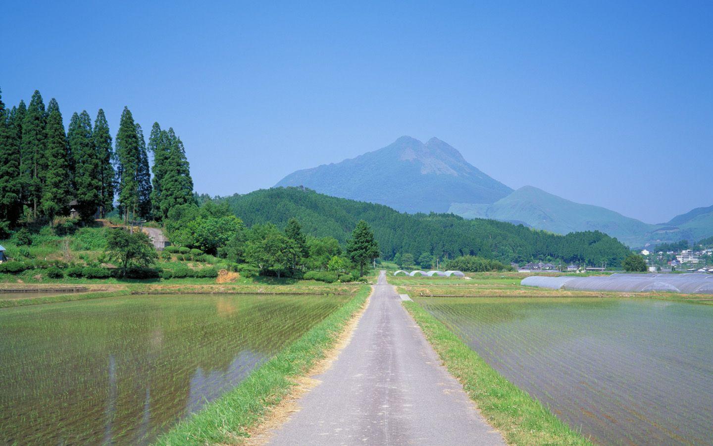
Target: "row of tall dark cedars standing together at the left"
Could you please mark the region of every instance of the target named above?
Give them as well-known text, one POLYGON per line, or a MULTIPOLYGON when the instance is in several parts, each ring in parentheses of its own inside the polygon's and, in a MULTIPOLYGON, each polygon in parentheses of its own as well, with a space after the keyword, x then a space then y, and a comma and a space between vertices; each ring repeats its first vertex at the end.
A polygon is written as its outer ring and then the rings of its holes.
POLYGON ((52 223, 68 215, 73 200, 84 222, 106 216, 115 201, 125 222, 162 220, 171 207, 193 201, 183 143, 173 128, 154 123, 147 145, 128 107, 112 141, 101 108, 93 123, 86 110, 73 113, 65 130, 55 98, 45 107, 35 91, 29 105, 8 108, 0 96, 0 225, 52 223))

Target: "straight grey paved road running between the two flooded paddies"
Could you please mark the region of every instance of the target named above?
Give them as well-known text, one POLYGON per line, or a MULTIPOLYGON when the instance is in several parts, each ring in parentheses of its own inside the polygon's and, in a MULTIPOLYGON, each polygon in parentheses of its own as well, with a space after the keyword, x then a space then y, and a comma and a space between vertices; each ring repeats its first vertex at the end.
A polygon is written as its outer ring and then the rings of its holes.
POLYGON ((351 343, 270 445, 504 445, 448 374, 384 272, 351 343))

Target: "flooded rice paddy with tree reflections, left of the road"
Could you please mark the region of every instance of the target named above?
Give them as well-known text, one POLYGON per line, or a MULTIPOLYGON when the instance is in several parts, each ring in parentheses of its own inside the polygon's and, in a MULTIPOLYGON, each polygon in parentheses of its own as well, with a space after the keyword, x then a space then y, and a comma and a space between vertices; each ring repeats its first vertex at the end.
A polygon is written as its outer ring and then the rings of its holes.
POLYGON ((0 444, 145 444, 348 299, 165 295, 0 309, 0 444))

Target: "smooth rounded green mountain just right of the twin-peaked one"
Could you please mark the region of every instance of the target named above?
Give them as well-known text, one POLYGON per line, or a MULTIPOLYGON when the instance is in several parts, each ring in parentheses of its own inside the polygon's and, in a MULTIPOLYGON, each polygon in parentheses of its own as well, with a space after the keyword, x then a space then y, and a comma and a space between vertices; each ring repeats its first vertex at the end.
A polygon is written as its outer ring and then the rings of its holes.
POLYGON ((494 218, 523 222, 533 228, 566 234, 600 230, 624 243, 636 243, 657 225, 622 216, 600 206, 575 203, 533 186, 523 186, 491 205, 453 203, 449 212, 466 218, 494 218))

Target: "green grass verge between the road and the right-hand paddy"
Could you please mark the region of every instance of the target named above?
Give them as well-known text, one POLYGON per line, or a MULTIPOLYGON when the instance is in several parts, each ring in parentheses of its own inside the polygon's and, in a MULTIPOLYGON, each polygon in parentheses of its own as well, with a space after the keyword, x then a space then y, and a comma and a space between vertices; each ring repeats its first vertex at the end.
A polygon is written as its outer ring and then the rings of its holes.
POLYGON ((404 302, 444 365, 510 445, 590 445, 547 407, 505 379, 419 303, 404 302))

